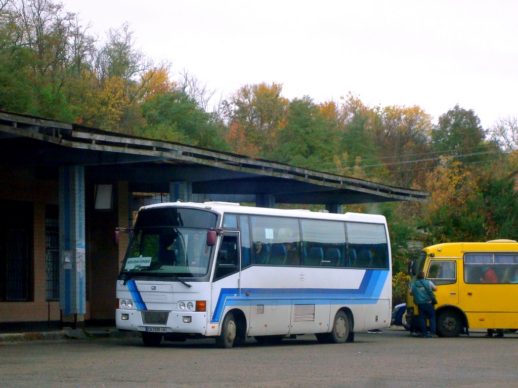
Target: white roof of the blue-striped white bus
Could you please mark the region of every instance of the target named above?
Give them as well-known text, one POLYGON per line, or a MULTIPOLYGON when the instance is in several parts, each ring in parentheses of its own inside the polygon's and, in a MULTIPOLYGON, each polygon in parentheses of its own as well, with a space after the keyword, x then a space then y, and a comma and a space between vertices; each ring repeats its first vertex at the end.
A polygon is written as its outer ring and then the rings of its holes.
POLYGON ((296 218, 312 218, 319 220, 334 220, 334 221, 361 221, 386 224, 386 219, 379 214, 364 214, 347 212, 345 214, 327 213, 319 211, 310 211, 305 209, 275 209, 262 208, 254 206, 241 206, 237 203, 231 202, 168 202, 155 205, 142 206, 142 209, 151 209, 157 207, 182 207, 182 208, 197 208, 212 210, 220 214, 236 213, 236 214, 257 214, 257 215, 282 215, 284 217, 296 218))

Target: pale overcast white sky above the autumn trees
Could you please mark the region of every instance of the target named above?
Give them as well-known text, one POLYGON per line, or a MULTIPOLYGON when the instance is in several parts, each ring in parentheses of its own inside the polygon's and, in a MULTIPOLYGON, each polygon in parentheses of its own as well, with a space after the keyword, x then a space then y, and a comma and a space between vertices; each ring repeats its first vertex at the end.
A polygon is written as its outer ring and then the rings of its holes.
POLYGON ((148 58, 215 95, 282 84, 315 103, 350 92, 374 106, 419 105, 437 122, 456 104, 482 126, 518 117, 514 0, 62 0, 91 33, 130 23, 148 58))

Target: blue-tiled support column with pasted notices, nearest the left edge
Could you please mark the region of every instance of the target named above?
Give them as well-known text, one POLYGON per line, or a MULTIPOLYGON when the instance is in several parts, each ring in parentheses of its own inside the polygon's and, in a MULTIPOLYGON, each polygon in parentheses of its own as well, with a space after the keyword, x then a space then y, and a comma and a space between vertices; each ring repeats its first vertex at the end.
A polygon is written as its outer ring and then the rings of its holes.
POLYGON ((84 167, 59 169, 60 310, 62 325, 84 325, 86 313, 84 167))

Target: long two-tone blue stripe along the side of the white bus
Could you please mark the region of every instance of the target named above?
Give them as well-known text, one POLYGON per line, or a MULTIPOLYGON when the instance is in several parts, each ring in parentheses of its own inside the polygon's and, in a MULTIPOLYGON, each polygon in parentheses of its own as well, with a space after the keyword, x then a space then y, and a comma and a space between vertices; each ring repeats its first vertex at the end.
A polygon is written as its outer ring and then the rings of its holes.
POLYGON ((221 320, 221 315, 225 306, 240 306, 242 301, 275 299, 281 305, 291 305, 292 299, 297 299, 300 303, 308 300, 315 304, 328 304, 332 300, 334 304, 376 304, 389 271, 367 269, 362 279, 362 283, 357 289, 221 289, 214 313, 210 320, 217 323, 221 320), (250 293, 253 297, 244 296, 250 293))

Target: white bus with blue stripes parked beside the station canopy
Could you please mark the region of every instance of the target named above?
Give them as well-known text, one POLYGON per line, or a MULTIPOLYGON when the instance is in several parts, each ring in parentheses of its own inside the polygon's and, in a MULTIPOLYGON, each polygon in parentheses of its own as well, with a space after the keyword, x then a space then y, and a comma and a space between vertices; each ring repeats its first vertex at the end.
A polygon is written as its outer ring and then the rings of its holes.
POLYGON ((382 215, 207 202, 140 208, 117 281, 117 327, 231 348, 315 334, 352 342, 390 325, 382 215))

